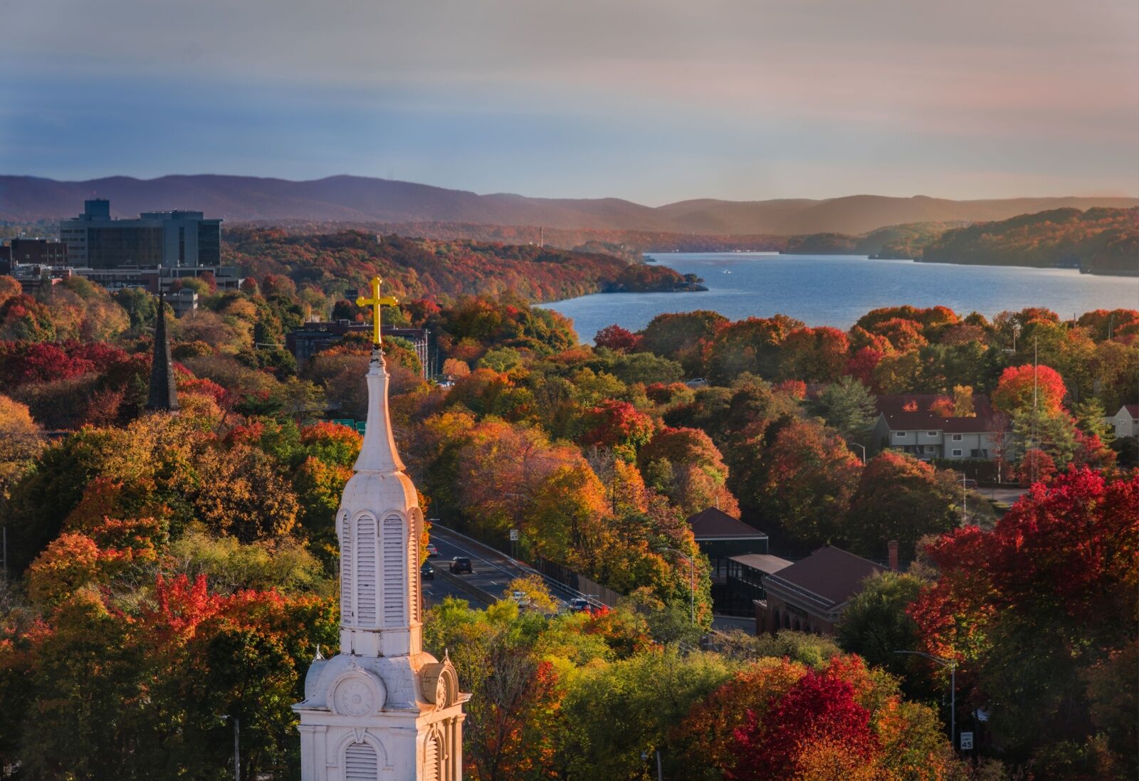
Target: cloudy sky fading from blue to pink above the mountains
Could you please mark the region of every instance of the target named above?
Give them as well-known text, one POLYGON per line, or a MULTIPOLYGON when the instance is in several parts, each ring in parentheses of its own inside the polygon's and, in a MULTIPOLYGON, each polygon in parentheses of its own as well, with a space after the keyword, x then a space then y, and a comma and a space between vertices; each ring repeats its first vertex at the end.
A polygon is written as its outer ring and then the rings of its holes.
POLYGON ((0 0, 0 173, 1139 195, 1134 0, 0 0))

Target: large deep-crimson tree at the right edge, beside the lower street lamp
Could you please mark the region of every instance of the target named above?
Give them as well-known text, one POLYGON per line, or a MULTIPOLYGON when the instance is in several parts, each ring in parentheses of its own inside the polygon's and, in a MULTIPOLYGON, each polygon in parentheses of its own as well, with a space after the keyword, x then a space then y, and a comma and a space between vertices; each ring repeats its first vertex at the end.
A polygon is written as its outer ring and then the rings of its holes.
MULTIPOLYGON (((992 532, 928 548, 940 569, 910 614, 924 650, 959 660, 997 739, 1021 762, 1093 735, 1081 681, 1139 624, 1139 477, 1077 469, 1035 484, 992 532)), ((1133 753, 1131 753, 1133 757, 1133 753)))

